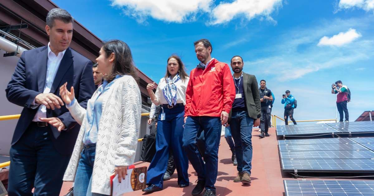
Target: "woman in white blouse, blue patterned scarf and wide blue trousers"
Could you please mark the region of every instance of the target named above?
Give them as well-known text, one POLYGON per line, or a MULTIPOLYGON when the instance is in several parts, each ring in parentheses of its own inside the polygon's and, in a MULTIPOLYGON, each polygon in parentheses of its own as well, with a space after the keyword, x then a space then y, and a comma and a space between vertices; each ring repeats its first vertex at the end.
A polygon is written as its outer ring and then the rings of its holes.
POLYGON ((178 184, 187 187, 188 159, 183 149, 184 105, 186 105, 186 89, 189 81, 182 60, 177 55, 168 58, 165 77, 161 78, 156 94, 153 93, 155 83, 148 84, 147 90, 155 105, 161 105, 157 121, 156 154, 147 171, 147 185, 144 192, 162 190, 163 175, 169 159, 169 147, 172 148, 175 166, 178 173, 178 184))

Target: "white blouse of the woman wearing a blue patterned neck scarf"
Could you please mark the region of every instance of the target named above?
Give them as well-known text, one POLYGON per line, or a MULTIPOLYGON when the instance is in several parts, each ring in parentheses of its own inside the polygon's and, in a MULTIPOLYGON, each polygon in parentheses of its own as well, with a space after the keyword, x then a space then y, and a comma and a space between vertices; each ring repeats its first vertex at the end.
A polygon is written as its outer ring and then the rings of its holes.
MULTIPOLYGON (((180 79, 175 83, 175 85, 177 86, 177 103, 183 103, 183 105, 186 105, 186 90, 189 80, 190 78, 187 77, 186 80, 183 81, 182 79, 180 79)), ((155 105, 169 104, 163 95, 163 88, 165 86, 166 80, 165 78, 161 78, 155 93, 156 100, 152 100, 152 103, 154 103, 155 105)))

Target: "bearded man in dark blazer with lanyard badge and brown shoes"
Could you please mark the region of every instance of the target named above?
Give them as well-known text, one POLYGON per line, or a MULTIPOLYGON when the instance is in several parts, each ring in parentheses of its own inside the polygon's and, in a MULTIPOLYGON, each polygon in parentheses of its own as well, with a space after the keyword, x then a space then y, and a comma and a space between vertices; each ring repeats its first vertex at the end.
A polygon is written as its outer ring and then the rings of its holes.
POLYGON ((238 175, 234 182, 251 183, 252 127, 260 125, 261 104, 257 80, 243 72, 242 57, 231 59, 234 71, 235 100, 230 111, 231 135, 235 143, 238 175))

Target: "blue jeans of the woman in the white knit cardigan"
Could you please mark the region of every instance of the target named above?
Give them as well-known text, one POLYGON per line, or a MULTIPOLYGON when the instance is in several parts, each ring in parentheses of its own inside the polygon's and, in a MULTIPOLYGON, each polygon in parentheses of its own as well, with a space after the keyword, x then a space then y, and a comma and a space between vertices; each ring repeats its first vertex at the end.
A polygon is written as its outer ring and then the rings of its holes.
POLYGON ((74 180, 74 196, 99 196, 91 193, 93 162, 95 162, 96 144, 87 144, 80 153, 77 173, 74 180))

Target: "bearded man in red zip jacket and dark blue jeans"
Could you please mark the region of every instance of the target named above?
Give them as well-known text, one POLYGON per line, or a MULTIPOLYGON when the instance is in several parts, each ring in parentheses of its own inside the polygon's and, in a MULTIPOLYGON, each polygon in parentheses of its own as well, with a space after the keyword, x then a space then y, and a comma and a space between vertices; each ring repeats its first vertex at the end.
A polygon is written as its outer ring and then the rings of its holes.
POLYGON ((191 71, 186 90, 183 147, 197 172, 198 182, 192 195, 199 195, 205 187, 204 195, 215 196, 221 127, 229 118, 235 87, 229 65, 211 57, 209 40, 195 41, 194 46, 200 63, 191 71), (197 135, 203 130, 205 164, 196 148, 197 135))

